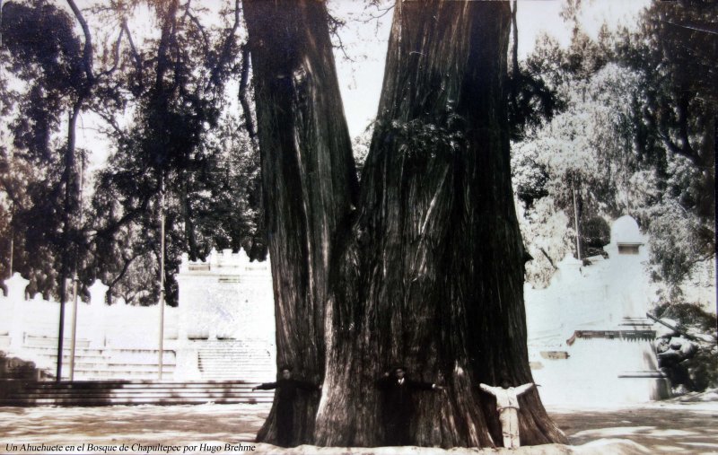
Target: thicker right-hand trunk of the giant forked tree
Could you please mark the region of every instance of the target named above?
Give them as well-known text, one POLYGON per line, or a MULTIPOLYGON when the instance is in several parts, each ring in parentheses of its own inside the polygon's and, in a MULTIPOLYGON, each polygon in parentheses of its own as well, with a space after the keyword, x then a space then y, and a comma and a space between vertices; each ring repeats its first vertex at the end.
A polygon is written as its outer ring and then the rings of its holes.
MULTIPOLYGON (((359 210, 334 264, 320 445, 381 445, 374 381, 392 364, 417 399, 414 443, 502 445, 479 382, 531 381, 524 249, 506 113, 508 3, 399 1, 359 210)), ((538 394, 523 444, 563 442, 538 394)))

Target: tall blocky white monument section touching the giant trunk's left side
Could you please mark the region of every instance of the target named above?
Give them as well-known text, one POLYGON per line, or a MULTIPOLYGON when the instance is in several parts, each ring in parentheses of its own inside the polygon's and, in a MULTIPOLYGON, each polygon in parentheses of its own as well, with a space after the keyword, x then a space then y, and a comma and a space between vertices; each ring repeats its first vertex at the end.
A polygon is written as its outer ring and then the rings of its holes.
POLYGON ((275 310, 269 260, 240 249, 213 250, 206 262, 182 257, 175 376, 181 380, 267 381, 276 371, 275 310))

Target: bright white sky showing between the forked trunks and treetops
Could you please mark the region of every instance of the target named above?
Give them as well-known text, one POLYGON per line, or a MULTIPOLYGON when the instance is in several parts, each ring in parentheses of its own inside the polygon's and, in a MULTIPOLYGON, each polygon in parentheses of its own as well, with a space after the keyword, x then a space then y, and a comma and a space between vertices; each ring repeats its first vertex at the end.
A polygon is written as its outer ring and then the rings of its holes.
MULTIPOLYGON (((84 7, 95 2, 82 0, 79 3, 84 7)), ((570 27, 559 16, 563 3, 564 0, 519 0, 517 22, 520 58, 530 54, 542 31, 553 35, 562 45, 568 45, 570 27)), ((648 0, 583 0, 582 27, 595 37, 603 22, 607 22, 610 27, 630 26, 635 23, 638 12, 648 3, 648 0)), ((340 31, 346 56, 338 52, 336 58, 349 133, 355 137, 369 125, 379 105, 393 10, 387 11, 386 6, 380 6, 380 9, 364 7, 363 2, 355 0, 329 0, 328 4, 332 13, 347 19, 346 27, 340 31), (381 17, 369 20, 372 16, 381 17)), ((105 153, 102 153, 106 146, 98 144, 96 121, 91 115, 85 114, 78 125, 78 145, 95 152, 92 159, 92 168, 95 169, 106 158, 105 153)))

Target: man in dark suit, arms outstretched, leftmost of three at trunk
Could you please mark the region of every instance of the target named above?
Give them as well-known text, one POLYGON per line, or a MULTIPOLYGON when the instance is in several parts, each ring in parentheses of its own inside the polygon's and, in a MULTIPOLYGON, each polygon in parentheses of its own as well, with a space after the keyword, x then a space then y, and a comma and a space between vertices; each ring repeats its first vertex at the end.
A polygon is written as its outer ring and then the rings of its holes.
POLYGON ((280 370, 279 381, 265 382, 252 390, 277 389, 276 439, 282 447, 292 447, 294 444, 294 400, 297 398, 297 389, 313 391, 320 390, 321 386, 293 379, 290 366, 283 366, 280 370))

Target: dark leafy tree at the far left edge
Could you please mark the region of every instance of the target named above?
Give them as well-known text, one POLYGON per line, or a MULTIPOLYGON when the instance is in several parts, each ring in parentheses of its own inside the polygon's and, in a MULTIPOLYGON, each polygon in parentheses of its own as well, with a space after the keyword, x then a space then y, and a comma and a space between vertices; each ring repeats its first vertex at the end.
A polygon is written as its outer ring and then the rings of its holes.
POLYGON ((66 278, 83 254, 74 137, 92 90, 92 53, 74 34, 74 19, 54 4, 10 2, 3 13, 4 77, 24 84, 24 90, 4 85, 4 96, 14 101, 14 109, 4 111, 13 118, 5 169, 24 174, 14 188, 12 179, 4 180, 22 252, 13 255, 13 268, 31 278, 31 292, 65 299, 66 278))

